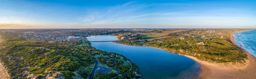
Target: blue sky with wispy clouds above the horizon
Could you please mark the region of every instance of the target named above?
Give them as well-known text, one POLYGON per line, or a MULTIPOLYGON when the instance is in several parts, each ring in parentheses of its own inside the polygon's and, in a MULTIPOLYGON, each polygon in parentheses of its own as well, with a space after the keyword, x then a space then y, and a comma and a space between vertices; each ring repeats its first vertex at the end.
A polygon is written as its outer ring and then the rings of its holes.
POLYGON ((256 28, 256 0, 0 0, 2 28, 256 28))

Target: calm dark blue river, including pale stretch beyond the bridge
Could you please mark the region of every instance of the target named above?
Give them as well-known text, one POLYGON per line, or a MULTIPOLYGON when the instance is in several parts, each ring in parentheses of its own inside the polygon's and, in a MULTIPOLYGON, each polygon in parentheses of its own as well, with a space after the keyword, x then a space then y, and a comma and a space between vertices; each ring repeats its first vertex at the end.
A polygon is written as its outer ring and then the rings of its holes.
MULTIPOLYGON (((114 35, 87 37, 89 41, 114 41, 114 35)), ((127 46, 113 42, 91 42, 96 49, 124 55, 140 68, 140 79, 190 79, 201 73, 201 65, 194 60, 161 49, 127 46)))

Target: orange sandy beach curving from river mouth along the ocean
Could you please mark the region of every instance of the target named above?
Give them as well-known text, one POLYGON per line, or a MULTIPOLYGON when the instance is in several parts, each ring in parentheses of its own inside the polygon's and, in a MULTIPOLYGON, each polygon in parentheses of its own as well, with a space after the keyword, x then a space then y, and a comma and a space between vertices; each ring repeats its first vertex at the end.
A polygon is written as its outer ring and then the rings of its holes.
MULTIPOLYGON (((233 34, 242 31, 247 30, 237 30, 229 33, 232 43, 238 46, 240 49, 243 48, 236 44, 233 34)), ((245 49, 243 50, 246 52, 249 58, 249 60, 246 61, 246 65, 209 63, 207 61, 198 60, 192 56, 185 56, 201 64, 203 71, 197 79, 256 79, 256 57, 248 53, 245 49)))

